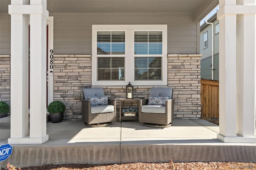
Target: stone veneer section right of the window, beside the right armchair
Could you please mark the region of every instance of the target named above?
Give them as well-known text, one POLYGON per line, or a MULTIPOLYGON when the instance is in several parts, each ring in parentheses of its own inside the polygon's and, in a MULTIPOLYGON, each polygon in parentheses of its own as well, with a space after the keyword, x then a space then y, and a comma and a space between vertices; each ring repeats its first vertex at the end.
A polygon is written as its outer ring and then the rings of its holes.
POLYGON ((176 118, 201 117, 201 54, 168 55, 168 87, 174 89, 176 118))

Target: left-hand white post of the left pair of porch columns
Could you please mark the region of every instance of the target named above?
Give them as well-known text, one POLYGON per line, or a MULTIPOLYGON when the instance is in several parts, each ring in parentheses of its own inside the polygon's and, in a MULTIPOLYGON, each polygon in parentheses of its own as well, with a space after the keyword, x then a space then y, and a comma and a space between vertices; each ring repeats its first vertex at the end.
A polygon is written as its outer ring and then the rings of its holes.
MULTIPOLYGON (((28 1, 12 0, 12 5, 28 1)), ((28 135, 28 15, 11 13, 10 106, 11 132, 8 143, 28 135)))

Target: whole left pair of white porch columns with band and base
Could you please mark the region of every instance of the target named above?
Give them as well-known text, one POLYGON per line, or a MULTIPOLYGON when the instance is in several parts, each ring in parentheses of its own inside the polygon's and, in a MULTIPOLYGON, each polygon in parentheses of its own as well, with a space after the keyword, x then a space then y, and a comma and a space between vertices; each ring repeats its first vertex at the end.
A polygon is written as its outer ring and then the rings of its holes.
POLYGON ((46 134, 46 0, 16 0, 11 15, 10 144, 42 144, 46 134), (40 10, 42 9, 42 10, 40 10), (30 132, 28 128, 28 14, 30 14, 30 132))

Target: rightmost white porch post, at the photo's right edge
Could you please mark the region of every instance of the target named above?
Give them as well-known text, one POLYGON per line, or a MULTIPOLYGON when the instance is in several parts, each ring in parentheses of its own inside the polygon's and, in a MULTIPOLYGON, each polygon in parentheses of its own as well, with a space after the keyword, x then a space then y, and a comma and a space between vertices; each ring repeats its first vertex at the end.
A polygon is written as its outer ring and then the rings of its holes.
MULTIPOLYGON (((240 1, 240 5, 256 5, 256 0, 240 1)), ((237 134, 254 137, 255 130, 255 58, 256 58, 256 11, 255 14, 238 15, 238 128, 237 134), (254 114, 253 114, 254 113, 254 114)), ((256 141, 254 139, 254 141, 256 141)))

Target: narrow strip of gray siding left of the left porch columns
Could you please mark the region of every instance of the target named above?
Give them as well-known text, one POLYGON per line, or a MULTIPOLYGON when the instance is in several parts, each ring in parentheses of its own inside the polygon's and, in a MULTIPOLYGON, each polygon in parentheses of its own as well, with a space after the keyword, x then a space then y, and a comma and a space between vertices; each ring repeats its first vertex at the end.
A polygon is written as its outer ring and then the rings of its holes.
POLYGON ((11 53, 11 16, 0 13, 0 55, 11 53))

